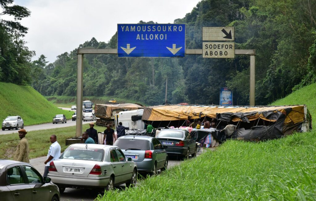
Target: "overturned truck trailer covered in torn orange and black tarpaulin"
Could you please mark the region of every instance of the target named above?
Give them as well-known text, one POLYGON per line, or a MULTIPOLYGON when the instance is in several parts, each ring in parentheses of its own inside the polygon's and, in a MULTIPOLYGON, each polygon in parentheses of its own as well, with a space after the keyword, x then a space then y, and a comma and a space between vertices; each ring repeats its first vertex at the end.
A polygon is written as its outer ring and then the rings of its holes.
POLYGON ((293 132, 312 128, 312 118, 306 105, 285 106, 218 106, 218 105, 159 105, 145 107, 142 120, 154 127, 180 127, 185 120, 201 122, 216 119, 216 129, 234 125, 228 138, 248 141, 281 138, 293 132))

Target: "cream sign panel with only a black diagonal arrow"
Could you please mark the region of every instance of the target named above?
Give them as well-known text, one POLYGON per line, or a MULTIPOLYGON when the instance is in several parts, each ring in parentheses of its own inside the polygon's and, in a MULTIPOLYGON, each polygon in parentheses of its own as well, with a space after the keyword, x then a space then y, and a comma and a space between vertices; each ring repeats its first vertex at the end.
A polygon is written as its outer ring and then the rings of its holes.
POLYGON ((203 27, 202 40, 227 41, 234 40, 234 27, 203 27))

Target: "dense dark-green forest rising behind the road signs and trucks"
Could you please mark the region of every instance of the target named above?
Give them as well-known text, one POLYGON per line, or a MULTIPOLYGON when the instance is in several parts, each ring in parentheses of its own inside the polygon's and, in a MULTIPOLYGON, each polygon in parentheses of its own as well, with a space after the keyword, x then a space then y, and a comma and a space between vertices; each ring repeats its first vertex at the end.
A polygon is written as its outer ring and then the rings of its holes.
MULTIPOLYGON (((8 7, 5 2, 10 0, 0 1, 2 8, 8 7)), ((17 20, 30 15, 25 11, 17 20)), ((186 24, 186 49, 202 49, 202 27, 233 26, 235 49, 256 50, 257 105, 316 81, 316 1, 202 0, 174 23, 186 24)), ((45 96, 76 96, 77 49, 60 54, 53 63, 47 63, 44 55, 30 62, 34 53, 22 39, 27 28, 13 25, 0 21, 0 81, 32 85, 45 96)), ((117 48, 117 33, 108 43, 92 38, 78 48, 117 48)), ((234 59, 85 55, 83 93, 155 105, 164 102, 168 79, 171 103, 219 104, 219 89, 228 86, 233 104, 247 105, 249 65, 249 56, 240 55, 234 59)))

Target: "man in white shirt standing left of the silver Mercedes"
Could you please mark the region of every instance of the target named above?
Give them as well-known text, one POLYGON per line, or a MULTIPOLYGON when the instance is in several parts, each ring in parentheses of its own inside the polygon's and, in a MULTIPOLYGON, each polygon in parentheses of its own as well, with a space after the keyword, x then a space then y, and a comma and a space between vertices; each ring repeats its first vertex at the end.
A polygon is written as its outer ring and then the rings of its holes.
POLYGON ((60 157, 60 145, 57 142, 57 137, 56 135, 51 135, 50 141, 52 145, 49 147, 48 154, 47 154, 47 160, 44 162, 45 163, 45 170, 44 170, 44 175, 43 177, 46 177, 48 174, 48 169, 49 169, 49 164, 60 157))

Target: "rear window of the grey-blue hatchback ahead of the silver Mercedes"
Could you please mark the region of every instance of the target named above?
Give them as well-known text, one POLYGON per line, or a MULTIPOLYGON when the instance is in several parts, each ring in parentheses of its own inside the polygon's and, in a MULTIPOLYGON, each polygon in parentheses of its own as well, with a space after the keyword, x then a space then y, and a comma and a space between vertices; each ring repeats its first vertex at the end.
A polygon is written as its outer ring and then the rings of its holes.
POLYGON ((138 150, 150 150, 149 141, 143 139, 117 139, 115 146, 120 149, 138 149, 138 150))

